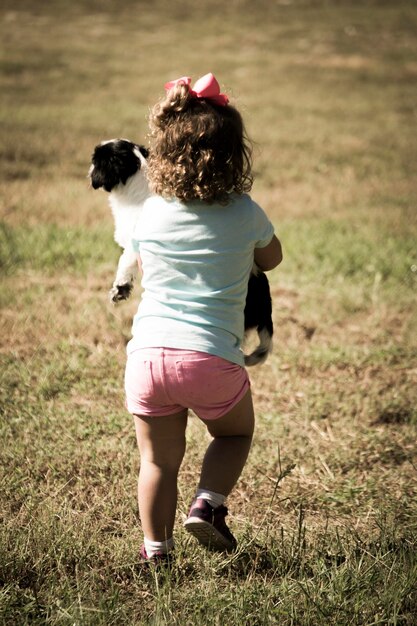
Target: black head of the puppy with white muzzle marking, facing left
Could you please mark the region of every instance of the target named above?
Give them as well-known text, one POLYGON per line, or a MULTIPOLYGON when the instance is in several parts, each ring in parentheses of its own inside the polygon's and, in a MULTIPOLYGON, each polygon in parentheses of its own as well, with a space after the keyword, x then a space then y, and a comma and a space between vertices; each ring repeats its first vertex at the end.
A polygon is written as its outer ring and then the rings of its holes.
POLYGON ((94 189, 110 192, 125 185, 146 163, 148 150, 127 139, 111 139, 96 146, 91 158, 89 176, 94 189))

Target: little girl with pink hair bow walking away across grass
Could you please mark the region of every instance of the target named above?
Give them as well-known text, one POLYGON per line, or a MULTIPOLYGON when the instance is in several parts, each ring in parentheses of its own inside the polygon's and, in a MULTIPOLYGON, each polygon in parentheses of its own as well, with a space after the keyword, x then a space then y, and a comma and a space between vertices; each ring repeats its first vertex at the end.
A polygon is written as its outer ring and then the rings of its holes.
POLYGON ((230 550, 226 497, 245 465, 254 428, 241 341, 253 261, 282 260, 263 210, 245 193, 251 150, 238 111, 207 74, 165 85, 150 116, 145 202, 134 235, 143 295, 126 366, 127 407, 141 457, 143 559, 172 550, 177 476, 188 410, 212 441, 185 528, 200 543, 230 550))

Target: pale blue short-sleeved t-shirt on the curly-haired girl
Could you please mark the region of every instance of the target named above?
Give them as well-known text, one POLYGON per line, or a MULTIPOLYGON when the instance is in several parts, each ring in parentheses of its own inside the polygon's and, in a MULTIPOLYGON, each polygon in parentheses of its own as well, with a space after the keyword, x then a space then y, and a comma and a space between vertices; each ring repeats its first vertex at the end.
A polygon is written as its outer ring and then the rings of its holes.
POLYGON ((133 236, 143 293, 128 350, 196 350, 244 365, 244 308, 255 248, 274 228, 250 196, 226 206, 146 200, 133 236))

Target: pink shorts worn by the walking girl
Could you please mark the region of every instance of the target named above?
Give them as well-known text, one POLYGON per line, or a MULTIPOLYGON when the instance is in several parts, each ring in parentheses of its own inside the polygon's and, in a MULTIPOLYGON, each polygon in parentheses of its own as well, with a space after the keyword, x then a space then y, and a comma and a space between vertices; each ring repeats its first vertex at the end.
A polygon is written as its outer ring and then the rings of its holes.
POLYGON ((250 387, 245 368, 218 356, 173 348, 142 348, 127 357, 129 413, 161 417, 191 409, 204 420, 228 413, 250 387))

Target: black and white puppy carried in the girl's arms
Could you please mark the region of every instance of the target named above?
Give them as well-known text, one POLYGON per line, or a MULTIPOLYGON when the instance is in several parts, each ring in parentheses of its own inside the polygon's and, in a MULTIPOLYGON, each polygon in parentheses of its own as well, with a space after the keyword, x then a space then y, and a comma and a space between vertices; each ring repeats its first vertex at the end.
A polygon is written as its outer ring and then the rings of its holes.
MULTIPOLYGON (((123 248, 116 277, 110 290, 113 302, 126 300, 138 273, 137 255, 132 248, 141 206, 149 196, 146 178, 148 151, 126 139, 104 141, 95 147, 89 171, 94 189, 103 187, 109 192, 109 203, 115 221, 115 241, 123 248)), ((256 266, 249 278, 245 306, 245 333, 256 330, 258 347, 245 355, 245 365, 257 365, 272 350, 272 301, 266 275, 256 266)))

